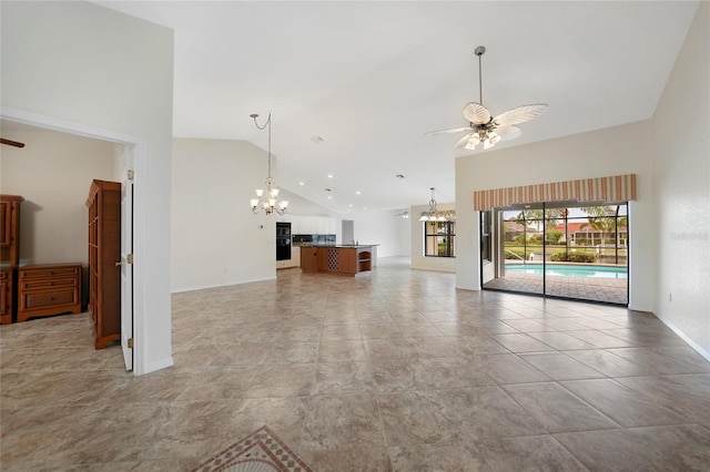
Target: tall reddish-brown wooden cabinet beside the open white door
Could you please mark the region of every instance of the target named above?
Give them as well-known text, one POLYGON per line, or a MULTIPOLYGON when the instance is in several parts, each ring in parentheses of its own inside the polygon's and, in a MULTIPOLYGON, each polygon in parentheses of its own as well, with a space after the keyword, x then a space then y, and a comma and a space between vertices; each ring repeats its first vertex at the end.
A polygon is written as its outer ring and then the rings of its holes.
POLYGON ((121 183, 93 181, 89 207, 89 311, 94 346, 121 339, 121 183))

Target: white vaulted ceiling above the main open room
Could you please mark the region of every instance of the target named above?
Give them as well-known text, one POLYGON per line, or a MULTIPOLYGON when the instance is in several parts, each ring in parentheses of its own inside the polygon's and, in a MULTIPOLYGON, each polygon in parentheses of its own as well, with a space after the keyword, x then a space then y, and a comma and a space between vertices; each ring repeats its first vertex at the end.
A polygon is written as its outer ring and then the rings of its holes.
MULTIPOLYGON (((174 30, 175 136, 265 150, 266 132, 250 114, 263 124, 271 112, 276 184, 341 213, 426 205, 429 187, 438 202, 455 199, 459 135, 425 133, 468 124, 460 111, 478 101, 477 45, 487 48, 483 99, 493 114, 549 104, 499 150, 651 117, 698 6, 95 3, 174 30)), ((495 158, 495 150, 477 158, 495 158)))

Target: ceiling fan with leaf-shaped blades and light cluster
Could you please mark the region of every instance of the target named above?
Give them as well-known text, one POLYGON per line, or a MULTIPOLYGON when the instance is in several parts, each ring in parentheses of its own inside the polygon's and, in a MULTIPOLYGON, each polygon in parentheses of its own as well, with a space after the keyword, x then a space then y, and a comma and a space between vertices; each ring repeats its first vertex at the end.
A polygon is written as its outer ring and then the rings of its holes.
POLYGON ((501 140, 515 140, 520 137, 523 132, 516 124, 525 123, 539 115, 547 110, 547 103, 534 103, 530 105, 521 105, 493 116, 488 109, 484 106, 483 78, 481 78, 481 57, 486 52, 486 48, 479 45, 474 50, 478 57, 478 103, 469 102, 464 106, 463 113, 468 126, 455 127, 452 130, 432 131, 428 134, 453 134, 466 132, 466 135, 458 140, 455 147, 465 147, 475 150, 480 143, 484 143, 484 150, 493 147, 501 140))

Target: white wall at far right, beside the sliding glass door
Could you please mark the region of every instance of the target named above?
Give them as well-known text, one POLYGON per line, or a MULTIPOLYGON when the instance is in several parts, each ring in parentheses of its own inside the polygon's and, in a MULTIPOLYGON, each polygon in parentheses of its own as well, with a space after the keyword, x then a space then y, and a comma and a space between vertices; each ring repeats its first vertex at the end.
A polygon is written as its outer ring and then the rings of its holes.
POLYGON ((656 315, 710 360, 710 4, 656 110, 656 315), (672 299, 672 301, 671 301, 672 299))

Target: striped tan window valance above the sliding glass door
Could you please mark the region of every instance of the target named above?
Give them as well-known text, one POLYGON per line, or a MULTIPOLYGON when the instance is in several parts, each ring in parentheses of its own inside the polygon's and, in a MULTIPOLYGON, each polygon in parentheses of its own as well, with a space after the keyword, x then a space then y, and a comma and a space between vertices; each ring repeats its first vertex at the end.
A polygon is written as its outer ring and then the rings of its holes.
POLYGON ((521 203, 627 202, 631 199, 636 199, 636 174, 476 191, 474 209, 485 211, 521 203))

